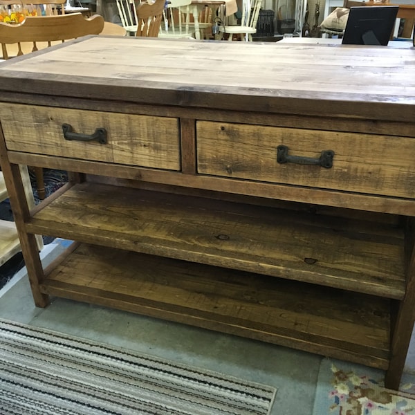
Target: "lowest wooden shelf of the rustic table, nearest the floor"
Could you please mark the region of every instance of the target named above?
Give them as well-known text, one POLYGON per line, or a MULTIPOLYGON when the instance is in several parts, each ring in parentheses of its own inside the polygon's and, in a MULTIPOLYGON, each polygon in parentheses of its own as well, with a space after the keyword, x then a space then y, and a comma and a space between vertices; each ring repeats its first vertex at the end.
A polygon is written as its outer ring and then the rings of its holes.
POLYGON ((73 243, 42 292, 387 369, 390 300, 73 243))

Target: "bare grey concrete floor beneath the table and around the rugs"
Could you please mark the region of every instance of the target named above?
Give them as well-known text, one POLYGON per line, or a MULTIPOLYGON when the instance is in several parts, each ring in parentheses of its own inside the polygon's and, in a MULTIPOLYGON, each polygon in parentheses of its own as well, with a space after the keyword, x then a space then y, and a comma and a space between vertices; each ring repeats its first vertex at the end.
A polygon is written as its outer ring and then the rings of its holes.
MULTIPOLYGON (((44 264, 65 243, 46 246, 44 264)), ((313 414, 321 356, 68 299, 36 308, 25 268, 0 290, 0 317, 272 385, 272 415, 313 414)), ((415 347, 406 369, 415 372, 415 347)))

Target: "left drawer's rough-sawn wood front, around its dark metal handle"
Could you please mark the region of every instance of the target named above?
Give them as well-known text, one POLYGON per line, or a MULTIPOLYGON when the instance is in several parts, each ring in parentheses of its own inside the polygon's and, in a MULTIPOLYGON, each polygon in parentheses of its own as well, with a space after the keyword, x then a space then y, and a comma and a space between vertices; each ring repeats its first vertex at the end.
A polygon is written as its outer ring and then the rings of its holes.
POLYGON ((180 170, 177 118, 138 116, 21 104, 0 104, 8 150, 180 170), (66 140, 62 124, 88 136, 107 130, 107 144, 66 140))

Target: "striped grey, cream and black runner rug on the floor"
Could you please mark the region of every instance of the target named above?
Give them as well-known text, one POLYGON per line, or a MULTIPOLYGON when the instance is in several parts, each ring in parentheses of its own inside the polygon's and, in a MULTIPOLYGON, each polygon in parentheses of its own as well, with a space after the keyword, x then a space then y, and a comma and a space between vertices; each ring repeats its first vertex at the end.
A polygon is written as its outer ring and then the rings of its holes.
POLYGON ((2 415, 266 415, 276 389, 0 319, 2 415))

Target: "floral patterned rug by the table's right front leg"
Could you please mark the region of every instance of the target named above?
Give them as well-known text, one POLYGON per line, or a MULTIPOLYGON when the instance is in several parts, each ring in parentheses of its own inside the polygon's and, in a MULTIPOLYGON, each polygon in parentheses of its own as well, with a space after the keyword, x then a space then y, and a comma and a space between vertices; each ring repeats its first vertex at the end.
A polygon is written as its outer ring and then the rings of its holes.
POLYGON ((400 391, 386 389, 385 372, 340 360, 320 366, 313 415, 415 415, 415 376, 400 391))

